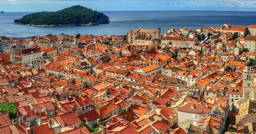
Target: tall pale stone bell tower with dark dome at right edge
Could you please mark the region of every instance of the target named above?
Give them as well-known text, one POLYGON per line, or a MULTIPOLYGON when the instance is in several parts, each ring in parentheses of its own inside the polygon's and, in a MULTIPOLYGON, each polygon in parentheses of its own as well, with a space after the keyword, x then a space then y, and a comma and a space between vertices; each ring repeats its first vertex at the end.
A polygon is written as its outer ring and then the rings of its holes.
POLYGON ((254 70, 250 60, 245 62, 243 73, 243 98, 245 100, 256 100, 256 89, 254 89, 254 70))

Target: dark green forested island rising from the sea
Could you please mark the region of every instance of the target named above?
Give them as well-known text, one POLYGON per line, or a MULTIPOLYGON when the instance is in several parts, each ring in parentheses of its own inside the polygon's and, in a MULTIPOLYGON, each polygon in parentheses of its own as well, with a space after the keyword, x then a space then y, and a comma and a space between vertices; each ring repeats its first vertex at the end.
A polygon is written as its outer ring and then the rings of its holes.
POLYGON ((13 24, 34 27, 95 26, 110 23, 105 14, 82 6, 72 6, 56 12, 36 12, 15 19, 13 24))

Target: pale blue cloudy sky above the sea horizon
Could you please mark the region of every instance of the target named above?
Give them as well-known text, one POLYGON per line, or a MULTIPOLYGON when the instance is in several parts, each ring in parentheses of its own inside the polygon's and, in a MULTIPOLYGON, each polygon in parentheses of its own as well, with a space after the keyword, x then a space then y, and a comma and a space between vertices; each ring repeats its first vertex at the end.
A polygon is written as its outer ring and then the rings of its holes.
POLYGON ((81 5, 98 11, 256 11, 256 0, 0 0, 0 11, 57 11, 74 5, 81 5))

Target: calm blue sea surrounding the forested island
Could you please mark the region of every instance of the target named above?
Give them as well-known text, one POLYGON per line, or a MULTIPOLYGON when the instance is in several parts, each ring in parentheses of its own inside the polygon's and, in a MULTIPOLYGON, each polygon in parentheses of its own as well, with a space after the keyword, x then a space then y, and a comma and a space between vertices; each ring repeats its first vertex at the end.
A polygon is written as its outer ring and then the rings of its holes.
POLYGON ((29 12, 0 13, 0 35, 7 37, 28 37, 46 34, 74 34, 78 30, 81 34, 94 35, 125 35, 131 29, 139 26, 145 29, 161 28, 162 33, 169 28, 256 25, 256 12, 231 11, 108 11, 111 23, 91 27, 62 27, 41 28, 23 25, 13 25, 14 19, 21 18, 29 12))

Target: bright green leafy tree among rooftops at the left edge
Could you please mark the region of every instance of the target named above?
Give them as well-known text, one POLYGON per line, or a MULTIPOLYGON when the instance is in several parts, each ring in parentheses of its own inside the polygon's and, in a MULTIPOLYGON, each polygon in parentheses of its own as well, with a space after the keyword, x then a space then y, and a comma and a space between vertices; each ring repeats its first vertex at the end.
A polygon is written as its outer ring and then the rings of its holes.
POLYGON ((17 107, 12 102, 0 104, 0 112, 8 113, 10 119, 16 118, 17 107))

